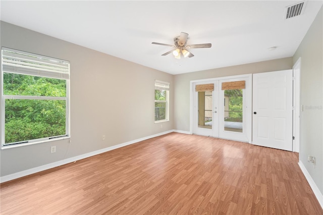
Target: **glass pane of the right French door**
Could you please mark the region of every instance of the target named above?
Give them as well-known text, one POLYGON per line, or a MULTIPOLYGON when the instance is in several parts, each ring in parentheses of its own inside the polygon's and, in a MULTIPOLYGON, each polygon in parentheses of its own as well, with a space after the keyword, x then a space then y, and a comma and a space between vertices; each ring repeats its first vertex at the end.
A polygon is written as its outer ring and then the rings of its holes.
POLYGON ((233 89, 224 91, 224 130, 243 131, 243 90, 233 89))

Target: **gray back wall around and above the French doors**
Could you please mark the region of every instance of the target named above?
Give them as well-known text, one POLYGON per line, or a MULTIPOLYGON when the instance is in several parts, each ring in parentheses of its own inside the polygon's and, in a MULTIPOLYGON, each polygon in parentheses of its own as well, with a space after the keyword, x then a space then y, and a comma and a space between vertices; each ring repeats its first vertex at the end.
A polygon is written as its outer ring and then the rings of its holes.
POLYGON ((186 132, 189 132, 190 130, 190 81, 233 75, 243 75, 250 73, 253 74, 261 72, 288 70, 292 69, 292 67, 292 58, 284 58, 272 61, 263 61, 253 64, 244 64, 239 66, 175 75, 175 129, 186 132))

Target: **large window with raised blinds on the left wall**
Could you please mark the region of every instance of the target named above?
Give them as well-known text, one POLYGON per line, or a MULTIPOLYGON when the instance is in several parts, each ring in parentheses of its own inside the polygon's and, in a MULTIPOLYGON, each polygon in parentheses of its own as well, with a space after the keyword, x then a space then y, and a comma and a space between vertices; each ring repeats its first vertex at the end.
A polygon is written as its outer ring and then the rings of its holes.
POLYGON ((2 48, 2 146, 69 137, 67 61, 2 48))

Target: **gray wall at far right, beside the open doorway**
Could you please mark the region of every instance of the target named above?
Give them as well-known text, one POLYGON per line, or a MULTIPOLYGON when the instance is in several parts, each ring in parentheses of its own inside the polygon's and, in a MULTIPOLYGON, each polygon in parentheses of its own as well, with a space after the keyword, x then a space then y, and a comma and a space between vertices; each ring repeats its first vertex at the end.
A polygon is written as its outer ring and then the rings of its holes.
POLYGON ((299 159, 323 193, 323 17, 322 8, 299 45, 293 62, 301 58, 301 105, 299 159), (316 157, 315 169, 307 156, 316 157))

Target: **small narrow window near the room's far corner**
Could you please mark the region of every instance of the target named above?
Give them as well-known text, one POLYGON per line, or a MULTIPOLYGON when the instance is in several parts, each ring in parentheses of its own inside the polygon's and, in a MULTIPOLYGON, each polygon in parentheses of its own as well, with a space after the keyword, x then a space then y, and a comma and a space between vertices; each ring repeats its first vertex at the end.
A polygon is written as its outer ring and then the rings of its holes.
POLYGON ((155 122, 169 118, 169 83, 155 80, 155 122))

